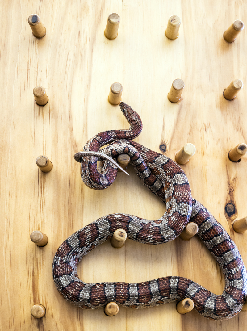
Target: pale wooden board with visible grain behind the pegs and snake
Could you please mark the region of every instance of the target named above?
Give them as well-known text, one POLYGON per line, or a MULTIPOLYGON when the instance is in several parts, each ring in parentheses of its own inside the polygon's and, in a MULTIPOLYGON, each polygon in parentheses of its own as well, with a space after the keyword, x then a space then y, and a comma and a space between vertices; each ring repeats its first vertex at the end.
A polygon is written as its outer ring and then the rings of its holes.
MULTIPOLYGON (((114 317, 103 309, 82 310, 67 303, 55 288, 52 260, 59 245, 74 231, 109 213, 132 213, 157 219, 163 204, 144 188, 133 169, 119 173, 107 190, 87 188, 73 155, 94 134, 128 128, 119 106, 108 103, 109 86, 120 81, 122 100, 143 121, 136 139, 174 159, 186 142, 197 153, 182 166, 192 196, 221 222, 247 265, 247 233, 232 230, 246 216, 247 158, 231 162, 228 151, 246 143, 245 87, 233 101, 223 90, 235 77, 246 86, 246 31, 232 44, 223 32, 247 16, 245 2, 174 0, 1 2, 1 330, 239 330, 247 312, 228 321, 212 321, 195 310, 186 315, 176 303, 143 310, 120 307, 114 317), (107 17, 121 17, 118 37, 104 36, 107 17), (27 23, 36 13, 46 27, 37 39, 27 23), (181 17, 179 37, 165 29, 171 15, 181 17), (185 82, 181 100, 168 98, 171 82, 185 82), (32 90, 42 85, 49 102, 34 103, 32 90), (49 155, 53 168, 42 173, 37 155, 49 155), (236 213, 227 216, 226 204, 236 213), (230 206, 230 205, 228 205, 230 206), (234 208, 233 208, 234 209, 234 208), (37 247, 29 235, 44 232, 48 244, 37 247), (46 315, 31 317, 34 304, 46 315)), ((179 275, 221 294, 220 268, 197 236, 188 242, 149 246, 126 240, 122 249, 110 241, 79 264, 86 282, 140 282, 179 275), (119 268, 121 261, 121 268, 119 268)))

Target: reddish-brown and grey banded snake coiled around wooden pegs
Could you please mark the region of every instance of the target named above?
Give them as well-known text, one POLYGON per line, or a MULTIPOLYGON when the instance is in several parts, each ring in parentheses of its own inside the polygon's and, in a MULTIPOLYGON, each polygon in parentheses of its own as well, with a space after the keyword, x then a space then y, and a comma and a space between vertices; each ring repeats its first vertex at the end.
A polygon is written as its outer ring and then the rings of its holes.
POLYGON ((71 304, 86 309, 103 308, 109 302, 144 308, 190 298, 198 313, 207 318, 233 317, 247 297, 246 268, 235 243, 214 216, 192 199, 187 177, 173 160, 130 140, 140 134, 142 122, 124 102, 120 103, 120 108, 130 124, 129 130, 101 132, 86 143, 83 151, 74 155, 75 160, 81 162, 82 180, 93 189, 107 188, 117 176, 116 162, 111 160, 119 154, 128 154, 143 184, 166 204, 166 213, 157 220, 115 213, 76 231, 61 244, 53 260, 53 279, 58 291, 71 304), (106 144, 109 145, 101 148, 106 144), (98 160, 101 160, 99 169, 98 160), (175 239, 189 221, 198 225, 197 235, 221 267, 225 276, 222 295, 176 276, 141 283, 88 284, 79 279, 79 261, 108 240, 115 230, 124 229, 127 238, 156 245, 175 239))

